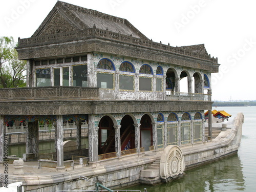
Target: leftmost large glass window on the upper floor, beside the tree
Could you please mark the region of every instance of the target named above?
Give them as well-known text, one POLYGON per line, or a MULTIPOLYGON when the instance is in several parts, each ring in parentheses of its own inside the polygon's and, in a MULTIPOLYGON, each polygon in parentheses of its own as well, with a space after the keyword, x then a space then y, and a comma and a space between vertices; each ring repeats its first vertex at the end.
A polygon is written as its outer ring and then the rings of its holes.
POLYGON ((51 68, 36 70, 36 87, 51 86, 51 68))

